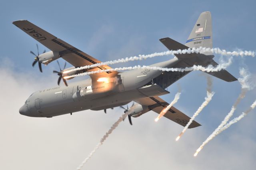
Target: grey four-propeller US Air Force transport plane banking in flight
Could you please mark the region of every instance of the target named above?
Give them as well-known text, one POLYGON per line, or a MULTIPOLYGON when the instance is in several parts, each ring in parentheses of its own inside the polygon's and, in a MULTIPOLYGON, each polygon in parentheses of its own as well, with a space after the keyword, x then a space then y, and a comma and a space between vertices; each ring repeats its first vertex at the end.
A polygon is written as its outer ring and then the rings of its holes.
MULTIPOLYGON (((65 85, 34 92, 20 108, 19 112, 22 115, 30 117, 54 117, 68 113, 72 115, 74 112, 87 109, 94 111, 104 110, 106 112, 106 109, 123 106, 134 101, 136 102, 133 106, 134 110, 129 115, 129 121, 132 124, 131 117, 139 117, 151 110, 159 114, 162 109, 166 108, 169 104, 159 96, 170 93, 166 88, 190 72, 166 72, 152 69, 134 69, 125 72, 108 71, 90 74, 90 78, 69 83, 67 86, 66 79, 64 79, 67 75, 110 69, 111 67, 102 65, 65 74, 64 71, 66 70, 100 63, 101 61, 60 40, 27 20, 18 20, 13 22, 13 24, 52 50, 49 52, 44 51, 45 53, 40 55, 39 53, 36 55, 31 51, 36 56, 33 66, 38 62, 41 72, 41 64, 47 65, 59 58, 66 60, 74 66, 63 70, 60 69, 60 71, 54 71, 54 73, 58 73, 59 75, 58 84, 62 79, 65 85)), ((211 13, 203 12, 200 14, 185 45, 170 38, 162 38, 160 42, 169 50, 188 49, 189 47, 200 46, 212 48, 211 13)), ((169 68, 191 67, 194 64, 216 66, 218 64, 212 59, 213 57, 214 55, 212 53, 177 54, 173 59, 150 66, 169 68)), ((218 72, 209 72, 208 74, 228 82, 237 80, 224 69, 218 72)), ((190 117, 173 106, 167 111, 164 117, 182 126, 186 126, 190 120, 190 117)), ((193 121, 189 128, 198 126, 200 124, 193 121)))

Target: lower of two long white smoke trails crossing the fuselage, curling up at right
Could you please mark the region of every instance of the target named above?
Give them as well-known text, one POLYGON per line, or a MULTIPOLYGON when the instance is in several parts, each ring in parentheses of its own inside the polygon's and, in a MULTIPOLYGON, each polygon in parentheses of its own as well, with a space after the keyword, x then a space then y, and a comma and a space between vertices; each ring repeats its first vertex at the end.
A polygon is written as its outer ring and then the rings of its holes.
POLYGON ((84 76, 84 75, 90 75, 90 74, 96 74, 96 73, 103 73, 103 72, 108 72, 108 71, 123 71, 123 70, 133 70, 133 69, 153 69, 153 70, 160 70, 160 71, 193 71, 193 70, 201 70, 205 72, 214 72, 214 71, 220 71, 222 69, 226 69, 229 65, 232 63, 232 57, 228 59, 228 62, 226 63, 221 63, 217 65, 216 67, 212 65, 208 65, 208 67, 203 67, 202 65, 193 65, 192 67, 185 67, 185 68, 163 68, 163 67, 151 67, 151 66, 140 66, 136 65, 134 67, 119 67, 119 68, 112 68, 112 69, 105 69, 105 70, 97 70, 97 71, 90 71, 86 73, 80 73, 76 75, 70 75, 70 76, 65 76, 64 79, 72 78, 72 77, 78 77, 78 76, 84 76))

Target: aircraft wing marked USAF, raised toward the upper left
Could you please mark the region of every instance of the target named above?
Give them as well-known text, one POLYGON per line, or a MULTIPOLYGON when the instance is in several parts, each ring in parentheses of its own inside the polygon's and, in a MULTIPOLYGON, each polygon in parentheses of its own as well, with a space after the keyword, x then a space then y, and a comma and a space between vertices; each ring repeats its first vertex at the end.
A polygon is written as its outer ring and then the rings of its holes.
MULTIPOLYGON (((83 51, 73 47, 72 45, 64 42, 63 40, 53 36, 52 34, 46 32, 42 28, 32 24, 27 20, 18 20, 12 22, 15 26, 20 28, 22 31, 26 32, 29 36, 40 42, 42 45, 46 46, 48 49, 59 52, 60 57, 66 60, 68 63, 75 67, 82 67, 85 65, 92 65, 100 63, 101 61, 95 59, 94 57, 84 53, 83 51)), ((111 69, 108 65, 102 65, 98 67, 93 67, 87 71, 96 71, 111 69)), ((90 75, 99 77, 110 77, 113 74, 116 75, 117 71, 108 71, 103 73, 97 73, 90 75)))

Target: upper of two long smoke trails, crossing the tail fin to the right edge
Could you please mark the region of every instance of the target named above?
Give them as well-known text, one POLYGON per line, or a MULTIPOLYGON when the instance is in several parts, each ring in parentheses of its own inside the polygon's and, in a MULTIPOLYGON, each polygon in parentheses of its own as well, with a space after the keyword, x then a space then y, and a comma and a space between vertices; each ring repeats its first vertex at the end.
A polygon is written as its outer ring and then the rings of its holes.
POLYGON ((118 60, 113 60, 113 61, 106 61, 102 63, 96 63, 92 65, 86 65, 83 67, 78 67, 75 69, 67 70, 64 71, 64 73, 69 73, 71 71, 78 71, 82 69, 89 69, 92 67, 98 67, 101 65, 111 65, 111 64, 116 64, 116 63, 125 63, 128 61, 135 61, 135 60, 142 60, 142 59, 147 59, 147 58, 152 58, 152 57, 157 57, 157 56, 164 56, 164 55, 174 55, 174 54, 185 54, 185 53, 205 53, 205 52, 210 52, 210 53, 216 53, 216 54, 221 54, 221 55, 227 55, 227 56, 252 56, 254 57, 256 55, 255 51, 226 51, 225 49, 220 49, 220 48, 206 48, 206 47, 199 47, 199 48, 189 48, 189 49, 178 49, 178 50, 171 50, 171 51, 164 51, 164 52, 159 52, 159 53, 152 53, 148 55, 138 55, 138 56, 133 56, 133 57, 126 57, 118 60))

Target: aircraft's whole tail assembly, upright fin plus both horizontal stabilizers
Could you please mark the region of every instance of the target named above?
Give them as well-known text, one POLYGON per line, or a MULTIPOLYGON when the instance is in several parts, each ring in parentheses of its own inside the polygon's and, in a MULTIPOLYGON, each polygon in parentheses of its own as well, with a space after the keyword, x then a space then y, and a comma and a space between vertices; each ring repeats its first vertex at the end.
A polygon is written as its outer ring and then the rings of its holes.
MULTIPOLYGON (((185 45, 176 42, 170 38, 162 38, 160 39, 169 50, 178 50, 178 49, 188 49, 197 48, 197 47, 210 47, 212 48, 212 18, 211 13, 206 11, 202 12, 188 37, 188 40, 185 45)), ((213 65, 216 67, 218 63, 216 63, 212 58, 214 55, 212 53, 185 53, 185 54, 175 54, 175 56, 182 60, 183 62, 179 63, 179 67, 188 67, 193 65, 202 65, 207 67, 208 65, 213 65)), ((222 79, 224 81, 232 82, 237 79, 228 73, 225 69, 217 72, 205 72, 214 77, 222 79)))

